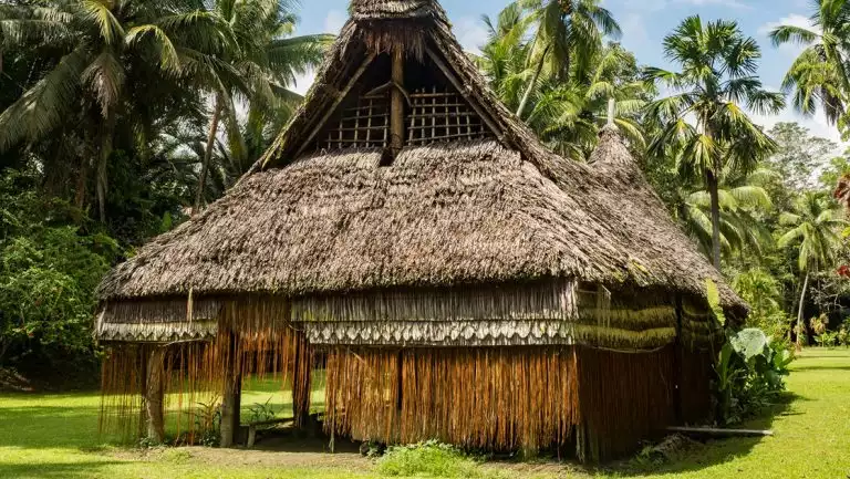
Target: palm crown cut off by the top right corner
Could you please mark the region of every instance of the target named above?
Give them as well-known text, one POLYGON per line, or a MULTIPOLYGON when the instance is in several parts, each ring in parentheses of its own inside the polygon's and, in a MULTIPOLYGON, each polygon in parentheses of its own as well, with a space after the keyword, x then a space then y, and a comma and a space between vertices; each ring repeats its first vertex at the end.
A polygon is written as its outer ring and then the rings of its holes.
POLYGON ((806 46, 782 80, 794 92, 794 106, 812 114, 821 106, 831 123, 846 113, 850 95, 850 3, 847 0, 815 0, 811 28, 780 25, 770 32, 774 45, 806 46))

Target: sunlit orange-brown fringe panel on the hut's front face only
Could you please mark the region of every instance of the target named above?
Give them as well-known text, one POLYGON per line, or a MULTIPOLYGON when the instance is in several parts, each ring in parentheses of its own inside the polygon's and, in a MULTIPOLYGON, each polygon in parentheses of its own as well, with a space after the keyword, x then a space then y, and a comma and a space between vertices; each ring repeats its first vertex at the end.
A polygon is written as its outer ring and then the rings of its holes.
POLYGON ((325 428, 359 440, 537 449, 580 420, 571 347, 335 348, 326 371, 325 428))

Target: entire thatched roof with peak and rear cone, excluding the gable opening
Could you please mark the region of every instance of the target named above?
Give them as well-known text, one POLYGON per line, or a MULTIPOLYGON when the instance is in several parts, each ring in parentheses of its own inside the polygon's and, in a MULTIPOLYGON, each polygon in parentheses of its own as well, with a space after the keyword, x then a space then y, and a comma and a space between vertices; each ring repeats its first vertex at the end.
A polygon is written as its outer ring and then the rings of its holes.
POLYGON ((489 92, 433 0, 355 0, 291 125, 235 188, 115 268, 104 302, 308 296, 567 278, 744 303, 676 227, 620 135, 590 165, 546 149, 489 92), (489 138, 302 154, 365 59, 404 43, 463 85, 489 138))

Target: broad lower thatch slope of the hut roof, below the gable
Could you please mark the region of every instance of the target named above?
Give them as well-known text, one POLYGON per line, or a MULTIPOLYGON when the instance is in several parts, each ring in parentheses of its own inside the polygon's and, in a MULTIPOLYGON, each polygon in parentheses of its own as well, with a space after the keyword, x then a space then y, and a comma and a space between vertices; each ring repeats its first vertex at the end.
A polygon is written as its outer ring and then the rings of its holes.
POLYGON ((189 291, 301 296, 561 277, 702 295, 703 278, 724 284, 649 191, 618 197, 626 185, 563 171, 559 183, 580 192, 568 195, 494 142, 380 162, 379 150, 343 150, 251 175, 118 265, 99 293, 108 302, 189 291))

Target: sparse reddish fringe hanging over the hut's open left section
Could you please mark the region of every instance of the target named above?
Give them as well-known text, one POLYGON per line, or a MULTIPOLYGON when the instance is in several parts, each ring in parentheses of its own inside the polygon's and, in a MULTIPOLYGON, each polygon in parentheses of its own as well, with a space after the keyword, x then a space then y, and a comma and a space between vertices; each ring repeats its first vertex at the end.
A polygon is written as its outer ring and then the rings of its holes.
MULTIPOLYGON (((145 434, 146 368, 155 351, 164 353, 158 381, 163 383, 163 409, 169 423, 166 434, 179 444, 195 444, 199 434, 215 427, 227 374, 232 375, 231 381, 280 375, 283 388, 293 377, 297 354, 302 354, 308 358, 303 367, 309 377, 312 353, 303 334, 284 321, 284 303, 246 299, 228 302, 225 308, 214 342, 115 343, 108 348, 102 374, 101 434, 117 433, 124 440, 145 434)), ((156 374, 154 368, 154 377, 156 374)), ((301 381, 294 383, 301 387, 301 381)), ((300 394, 299 405, 309 408, 309 382, 305 387, 307 394, 298 389, 296 394, 300 394)), ((156 392, 151 394, 156 396, 156 392)))

